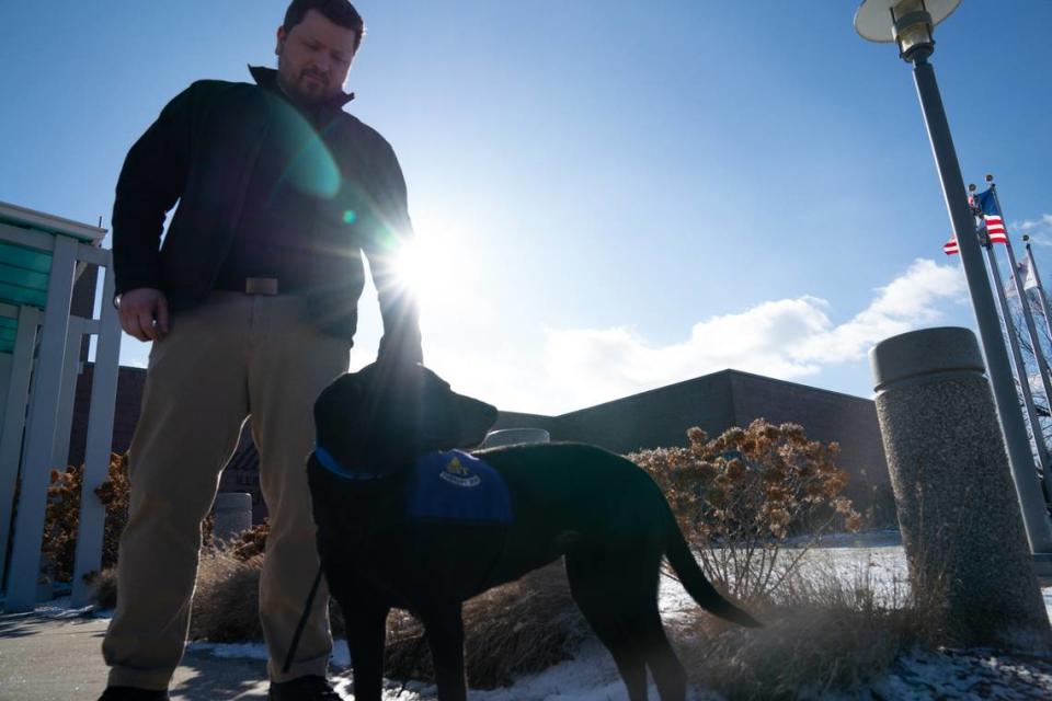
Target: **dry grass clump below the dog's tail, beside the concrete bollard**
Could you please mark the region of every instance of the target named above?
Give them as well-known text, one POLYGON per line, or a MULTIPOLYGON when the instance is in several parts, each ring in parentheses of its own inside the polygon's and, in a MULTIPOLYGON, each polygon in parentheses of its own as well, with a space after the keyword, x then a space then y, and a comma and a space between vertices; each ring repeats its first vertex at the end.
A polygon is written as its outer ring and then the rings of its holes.
POLYGON ((766 628, 689 619, 677 637, 693 683, 731 701, 857 691, 923 640, 930 620, 906 587, 881 595, 868 575, 845 582, 832 568, 789 575, 757 616, 766 628))

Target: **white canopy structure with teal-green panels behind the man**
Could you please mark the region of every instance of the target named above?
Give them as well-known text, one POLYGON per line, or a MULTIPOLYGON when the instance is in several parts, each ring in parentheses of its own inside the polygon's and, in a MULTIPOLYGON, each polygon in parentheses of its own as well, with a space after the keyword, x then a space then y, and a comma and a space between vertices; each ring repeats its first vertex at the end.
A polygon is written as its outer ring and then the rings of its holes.
POLYGON ((80 348, 83 336, 92 334, 98 342, 75 605, 87 602, 83 575, 101 564, 105 509, 94 491, 108 475, 121 349, 121 326, 108 302, 112 258, 101 248, 105 234, 98 227, 0 202, 0 548, 13 540, 7 572, 0 556, 0 582, 5 576, 3 608, 9 612, 32 610, 37 601, 50 471, 66 467, 80 348), (103 273, 99 319, 70 312, 73 283, 87 264, 103 273))

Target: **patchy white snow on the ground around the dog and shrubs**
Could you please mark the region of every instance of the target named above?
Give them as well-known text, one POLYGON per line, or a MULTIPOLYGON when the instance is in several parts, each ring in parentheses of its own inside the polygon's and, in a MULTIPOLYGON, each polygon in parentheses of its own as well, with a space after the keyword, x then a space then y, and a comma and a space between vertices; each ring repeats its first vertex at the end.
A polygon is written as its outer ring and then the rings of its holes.
MULTIPOLYGON (((865 539, 838 536, 823 542, 805 556, 804 572, 816 577, 831 572, 845 583, 866 581, 891 604, 904 600, 908 593, 905 554, 895 533, 869 535, 865 539)), ((1042 589, 1045 608, 1052 620, 1052 587, 1042 589)), ((679 584, 662 577, 661 611, 666 621, 687 616, 697 605, 679 584)), ((52 618, 84 616, 87 609, 71 609, 68 598, 56 599, 37 612, 52 618)), ((95 616, 112 616, 96 611, 95 616)), ((266 650, 259 643, 191 643, 191 650, 217 657, 266 659, 266 650)), ((332 668, 342 673, 351 664, 345 641, 336 641, 332 668)), ((351 681, 338 677, 339 689, 351 698, 351 681)), ((888 674, 878 679, 865 698, 876 701, 926 701, 929 699, 1004 699, 1009 701, 1052 699, 1052 659, 997 655, 986 650, 929 652, 916 650, 902 655, 888 674)), ((656 691, 651 688, 651 698, 656 691)), ((690 701, 718 701, 719 694, 694 690, 690 701)), ((826 694, 823 701, 847 701, 853 694, 826 694)), ((433 701, 435 689, 421 682, 388 681, 385 701, 433 701)), ((590 640, 572 660, 539 674, 519 677, 508 689, 473 690, 472 701, 624 701, 625 688, 617 669, 603 646, 590 640)))

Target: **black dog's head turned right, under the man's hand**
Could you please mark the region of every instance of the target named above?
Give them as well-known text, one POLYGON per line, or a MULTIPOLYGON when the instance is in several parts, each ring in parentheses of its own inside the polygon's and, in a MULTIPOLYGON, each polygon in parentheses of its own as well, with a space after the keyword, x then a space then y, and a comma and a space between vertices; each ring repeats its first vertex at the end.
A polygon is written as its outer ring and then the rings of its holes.
POLYGON ((422 365, 374 363, 336 378, 315 403, 318 445, 374 474, 435 450, 477 446, 495 421, 494 406, 457 394, 422 365))

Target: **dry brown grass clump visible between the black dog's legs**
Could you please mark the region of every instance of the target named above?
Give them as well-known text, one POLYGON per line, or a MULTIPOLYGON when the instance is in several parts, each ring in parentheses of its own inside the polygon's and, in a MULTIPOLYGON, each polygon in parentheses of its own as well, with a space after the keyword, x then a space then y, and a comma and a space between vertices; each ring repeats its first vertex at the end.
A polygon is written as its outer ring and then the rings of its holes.
MULTIPOLYGON (((553 563, 481 594, 464 607, 468 680, 474 689, 507 686, 565 659, 587 634, 570 596, 562 563, 553 563)), ((421 624, 396 611, 388 619, 387 675, 434 678, 421 624)))

